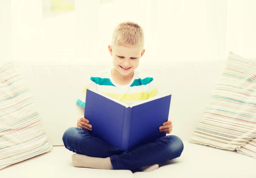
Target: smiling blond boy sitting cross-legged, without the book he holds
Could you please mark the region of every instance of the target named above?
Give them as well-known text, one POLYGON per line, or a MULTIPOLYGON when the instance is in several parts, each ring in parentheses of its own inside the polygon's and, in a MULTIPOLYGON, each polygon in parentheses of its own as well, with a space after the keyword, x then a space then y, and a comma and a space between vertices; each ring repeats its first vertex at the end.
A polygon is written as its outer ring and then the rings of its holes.
MULTIPOLYGON (((144 34, 138 24, 119 24, 113 32, 112 44, 108 46, 113 57, 113 69, 91 77, 77 103, 85 106, 87 88, 126 103, 146 100, 157 95, 153 78, 135 71, 139 66, 140 57, 145 52, 143 47, 144 34)), ((67 129, 63 135, 65 147, 76 152, 72 156, 75 167, 151 171, 157 169, 159 163, 179 157, 183 151, 183 143, 175 135, 164 136, 152 143, 122 151, 93 137, 90 134, 92 129, 93 126, 82 116, 77 122, 77 127, 67 129)), ((172 122, 163 123, 159 131, 171 133, 172 122)))

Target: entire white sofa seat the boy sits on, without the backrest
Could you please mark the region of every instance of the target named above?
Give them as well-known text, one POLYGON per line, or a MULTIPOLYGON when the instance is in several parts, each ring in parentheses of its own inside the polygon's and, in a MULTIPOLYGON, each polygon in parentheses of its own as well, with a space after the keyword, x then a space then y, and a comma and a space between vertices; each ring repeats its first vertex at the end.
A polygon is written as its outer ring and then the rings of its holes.
POLYGON ((73 152, 54 146, 51 152, 0 170, 0 178, 256 178, 256 159, 184 141, 180 158, 152 172, 73 167, 73 152))

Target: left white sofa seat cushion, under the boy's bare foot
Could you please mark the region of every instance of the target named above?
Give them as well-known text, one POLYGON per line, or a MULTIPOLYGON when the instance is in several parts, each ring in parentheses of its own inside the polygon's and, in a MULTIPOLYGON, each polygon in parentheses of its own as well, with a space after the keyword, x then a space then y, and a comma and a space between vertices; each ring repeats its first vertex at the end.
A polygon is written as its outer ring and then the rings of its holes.
POLYGON ((51 152, 0 170, 1 178, 132 178, 129 170, 105 170, 74 167, 75 154, 64 146, 53 146, 51 152), (19 170, 19 171, 17 171, 19 170), (38 173, 40 172, 40 173, 38 173))

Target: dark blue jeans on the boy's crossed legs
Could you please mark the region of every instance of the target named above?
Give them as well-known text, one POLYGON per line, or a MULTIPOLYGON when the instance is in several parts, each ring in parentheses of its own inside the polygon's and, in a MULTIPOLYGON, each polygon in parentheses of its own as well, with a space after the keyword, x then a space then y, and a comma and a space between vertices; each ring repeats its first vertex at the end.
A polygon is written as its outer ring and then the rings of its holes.
POLYGON ((70 151, 91 157, 110 157, 113 169, 135 170, 143 166, 160 164, 177 157, 183 151, 183 142, 175 135, 158 138, 152 143, 122 151, 85 129, 71 127, 62 137, 64 146, 70 151))

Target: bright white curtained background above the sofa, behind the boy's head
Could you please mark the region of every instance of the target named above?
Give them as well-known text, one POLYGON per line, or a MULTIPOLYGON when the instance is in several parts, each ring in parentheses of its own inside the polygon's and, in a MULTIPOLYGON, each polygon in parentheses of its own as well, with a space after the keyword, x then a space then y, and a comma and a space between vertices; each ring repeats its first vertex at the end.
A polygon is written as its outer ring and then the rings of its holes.
POLYGON ((142 66, 170 60, 225 60, 230 50, 255 58, 255 6, 254 0, 76 0, 75 12, 44 17, 40 0, 3 1, 0 56, 111 64, 112 30, 131 20, 145 32, 142 66), (4 42, 10 38, 12 43, 4 42))

